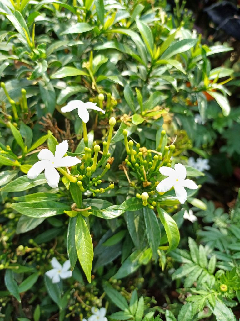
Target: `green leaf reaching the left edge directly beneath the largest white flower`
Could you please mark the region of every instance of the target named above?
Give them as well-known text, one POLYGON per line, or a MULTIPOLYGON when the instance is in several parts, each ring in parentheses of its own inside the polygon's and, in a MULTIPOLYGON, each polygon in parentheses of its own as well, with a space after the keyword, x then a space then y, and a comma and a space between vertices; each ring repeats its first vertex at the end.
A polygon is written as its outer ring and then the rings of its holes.
POLYGON ((20 176, 2 187, 0 190, 4 192, 22 192, 29 188, 42 185, 46 183, 44 174, 38 175, 36 179, 30 179, 27 175, 20 176))

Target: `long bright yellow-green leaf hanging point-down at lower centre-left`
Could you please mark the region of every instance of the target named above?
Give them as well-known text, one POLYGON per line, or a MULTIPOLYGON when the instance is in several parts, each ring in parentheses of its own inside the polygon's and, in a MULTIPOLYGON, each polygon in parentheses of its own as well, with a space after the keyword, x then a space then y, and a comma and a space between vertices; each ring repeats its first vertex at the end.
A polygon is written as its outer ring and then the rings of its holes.
POLYGON ((86 274, 87 280, 91 283, 91 271, 93 260, 93 245, 90 231, 82 215, 77 216, 76 220, 76 249, 79 262, 86 274))

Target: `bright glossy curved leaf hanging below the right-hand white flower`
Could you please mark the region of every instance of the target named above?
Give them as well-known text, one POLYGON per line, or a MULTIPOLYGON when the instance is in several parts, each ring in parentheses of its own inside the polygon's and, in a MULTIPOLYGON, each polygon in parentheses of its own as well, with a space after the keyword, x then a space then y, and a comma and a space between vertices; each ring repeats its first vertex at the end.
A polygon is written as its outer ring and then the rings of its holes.
POLYGON ((180 234, 179 234, 178 226, 177 226, 177 223, 173 220, 173 218, 159 206, 157 206, 157 212, 167 235, 167 239, 169 243, 169 248, 167 250, 167 253, 168 253, 174 248, 176 248, 179 244, 180 234))

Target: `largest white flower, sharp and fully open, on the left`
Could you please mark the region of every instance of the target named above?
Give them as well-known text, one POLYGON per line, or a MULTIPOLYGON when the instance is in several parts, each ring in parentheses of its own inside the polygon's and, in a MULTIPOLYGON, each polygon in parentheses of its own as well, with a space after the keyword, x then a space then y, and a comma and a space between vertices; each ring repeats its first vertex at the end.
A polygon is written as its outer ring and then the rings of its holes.
POLYGON ((42 149, 37 155, 40 161, 36 162, 28 171, 28 178, 35 179, 43 170, 47 183, 52 188, 58 187, 60 175, 55 168, 70 167, 81 163, 76 156, 65 156, 68 151, 68 142, 65 140, 56 146, 55 155, 47 148, 42 149))

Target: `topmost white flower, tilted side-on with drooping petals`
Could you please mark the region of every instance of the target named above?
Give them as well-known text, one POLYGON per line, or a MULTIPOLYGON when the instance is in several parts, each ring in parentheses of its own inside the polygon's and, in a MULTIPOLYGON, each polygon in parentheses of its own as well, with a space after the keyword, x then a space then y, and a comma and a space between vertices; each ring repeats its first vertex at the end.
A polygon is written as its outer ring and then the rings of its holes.
POLYGON ((68 104, 61 108, 62 113, 67 113, 69 111, 73 111, 77 109, 78 116, 82 119, 84 123, 89 121, 89 112, 88 109, 94 109, 97 111, 101 111, 105 114, 105 111, 102 110, 100 107, 96 106, 97 103, 93 103, 91 101, 83 102, 82 100, 71 100, 68 104))

